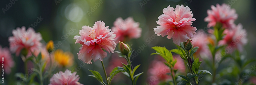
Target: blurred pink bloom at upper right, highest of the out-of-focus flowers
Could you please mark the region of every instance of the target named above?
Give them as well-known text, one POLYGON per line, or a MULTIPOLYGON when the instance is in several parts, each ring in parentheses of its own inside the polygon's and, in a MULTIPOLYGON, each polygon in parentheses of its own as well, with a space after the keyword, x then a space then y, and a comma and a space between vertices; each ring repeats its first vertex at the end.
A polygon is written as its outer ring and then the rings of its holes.
POLYGON ((207 27, 214 27, 217 22, 222 24, 224 28, 232 28, 234 25, 234 20, 237 19, 235 9, 230 9, 227 4, 216 4, 216 7, 211 5, 212 10, 207 10, 208 16, 205 18, 206 22, 209 22, 207 27))

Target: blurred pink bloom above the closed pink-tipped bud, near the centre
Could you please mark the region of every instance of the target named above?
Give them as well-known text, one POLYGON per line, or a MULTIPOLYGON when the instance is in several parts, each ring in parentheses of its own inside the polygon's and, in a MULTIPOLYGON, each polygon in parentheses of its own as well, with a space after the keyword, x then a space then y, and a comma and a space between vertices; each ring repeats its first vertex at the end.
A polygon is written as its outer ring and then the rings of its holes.
POLYGON ((121 17, 117 18, 114 22, 114 27, 111 28, 114 34, 116 34, 115 43, 140 38, 142 29, 139 26, 140 23, 135 22, 132 17, 128 17, 125 20, 121 17))

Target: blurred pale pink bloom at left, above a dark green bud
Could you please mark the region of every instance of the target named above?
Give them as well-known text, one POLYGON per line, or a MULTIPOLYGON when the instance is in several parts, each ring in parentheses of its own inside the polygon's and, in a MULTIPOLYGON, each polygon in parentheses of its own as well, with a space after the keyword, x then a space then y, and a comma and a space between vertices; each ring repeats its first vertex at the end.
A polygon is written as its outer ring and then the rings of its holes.
POLYGON ((42 40, 41 34, 36 33, 33 28, 28 28, 26 31, 26 27, 23 26, 13 30, 12 33, 13 36, 9 37, 8 41, 10 42, 10 51, 16 53, 16 56, 19 55, 23 48, 28 50, 27 56, 31 56, 31 52, 38 51, 42 45, 40 43, 42 40))

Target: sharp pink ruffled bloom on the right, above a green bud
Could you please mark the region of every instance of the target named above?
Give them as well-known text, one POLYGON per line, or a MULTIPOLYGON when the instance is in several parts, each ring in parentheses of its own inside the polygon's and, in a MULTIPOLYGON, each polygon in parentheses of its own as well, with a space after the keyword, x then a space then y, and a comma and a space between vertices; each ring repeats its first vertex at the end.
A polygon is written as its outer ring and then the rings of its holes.
POLYGON ((158 25, 154 28, 155 34, 157 36, 162 35, 165 37, 167 35, 168 39, 173 38, 173 42, 176 45, 179 43, 188 40, 190 37, 194 38, 194 34, 196 34, 196 28, 191 27, 192 21, 195 21, 190 8, 184 7, 183 5, 177 5, 174 9, 173 7, 168 6, 163 9, 162 15, 158 17, 158 21, 156 22, 158 25), (175 11, 174 11, 175 10, 175 11))

